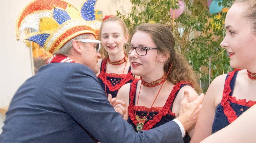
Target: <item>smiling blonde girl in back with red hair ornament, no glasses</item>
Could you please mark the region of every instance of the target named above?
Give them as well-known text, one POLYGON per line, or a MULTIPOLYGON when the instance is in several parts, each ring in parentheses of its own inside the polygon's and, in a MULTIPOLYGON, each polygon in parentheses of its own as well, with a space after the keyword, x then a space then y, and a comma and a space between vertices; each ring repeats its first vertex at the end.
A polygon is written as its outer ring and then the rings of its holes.
POLYGON ((99 37, 104 48, 100 49, 103 59, 98 62, 96 75, 106 95, 111 94, 114 98, 121 86, 135 79, 124 51, 124 44, 129 39, 128 29, 123 20, 106 16, 99 37))

